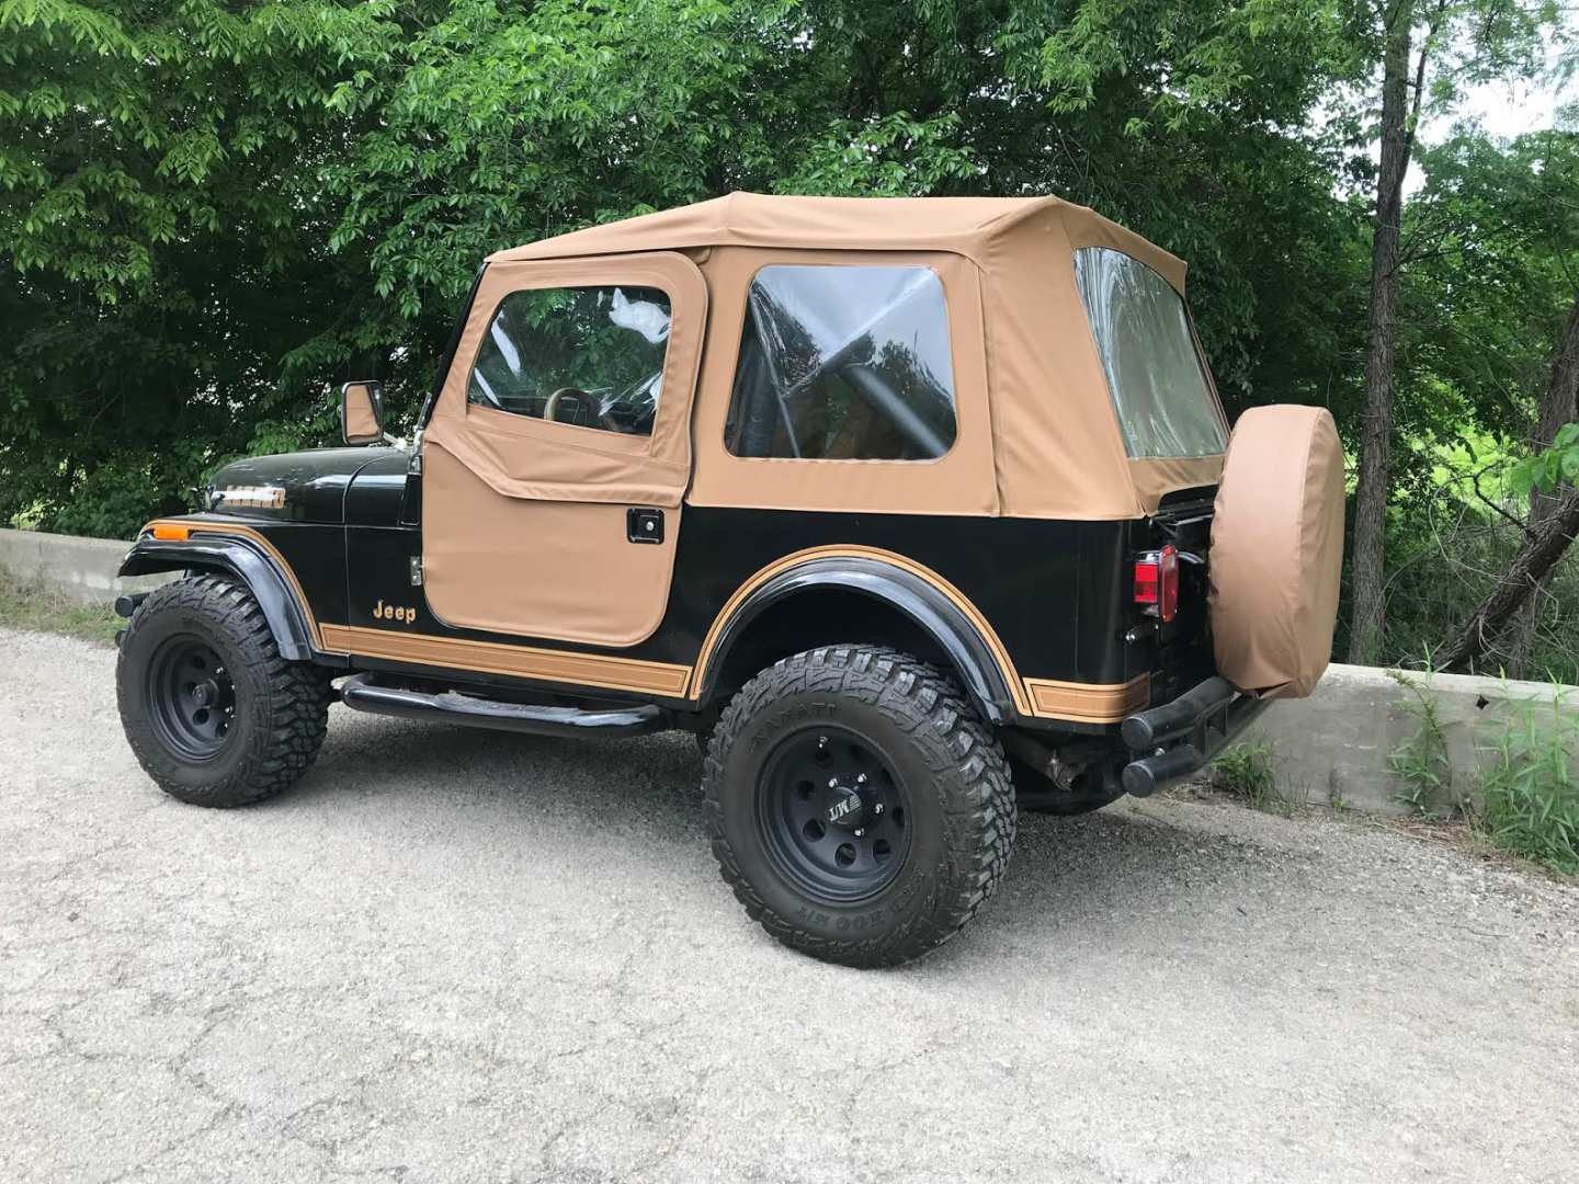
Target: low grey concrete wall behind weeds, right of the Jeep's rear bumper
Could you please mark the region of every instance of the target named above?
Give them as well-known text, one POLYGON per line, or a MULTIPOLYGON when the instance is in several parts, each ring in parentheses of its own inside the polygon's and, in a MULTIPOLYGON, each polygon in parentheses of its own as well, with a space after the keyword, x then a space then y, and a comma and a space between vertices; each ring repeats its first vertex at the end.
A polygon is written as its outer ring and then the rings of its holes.
POLYGON ((1486 750, 1521 709, 1533 706, 1554 723, 1560 714, 1566 726, 1579 726, 1579 687, 1334 665, 1309 699, 1273 704, 1241 740, 1271 745, 1285 796, 1408 813, 1401 800, 1408 783, 1393 772, 1391 758, 1421 734, 1421 696, 1440 723, 1446 792, 1462 797, 1473 797, 1486 750))

